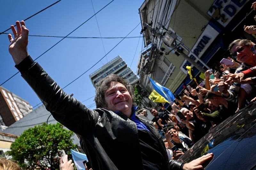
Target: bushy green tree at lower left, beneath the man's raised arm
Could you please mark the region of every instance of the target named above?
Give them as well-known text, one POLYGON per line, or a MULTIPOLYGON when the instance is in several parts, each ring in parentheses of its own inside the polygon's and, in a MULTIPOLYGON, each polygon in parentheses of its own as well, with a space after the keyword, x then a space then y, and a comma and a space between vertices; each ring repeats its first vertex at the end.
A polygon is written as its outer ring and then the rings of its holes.
POLYGON ((43 123, 25 130, 7 154, 24 169, 59 169, 58 150, 64 149, 70 159, 70 150, 77 147, 72 135, 60 123, 43 123))

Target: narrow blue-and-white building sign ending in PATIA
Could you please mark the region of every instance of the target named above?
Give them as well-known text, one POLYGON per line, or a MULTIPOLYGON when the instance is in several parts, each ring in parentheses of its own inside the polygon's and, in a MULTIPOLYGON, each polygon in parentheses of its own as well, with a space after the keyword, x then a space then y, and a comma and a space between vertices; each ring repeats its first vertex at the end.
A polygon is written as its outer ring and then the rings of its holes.
MULTIPOLYGON (((218 35, 219 33, 212 26, 207 25, 188 56, 197 61, 195 56, 200 58, 218 35)), ((188 74, 186 69, 187 65, 191 66, 191 63, 185 60, 180 66, 180 70, 182 70, 185 74, 188 74)))

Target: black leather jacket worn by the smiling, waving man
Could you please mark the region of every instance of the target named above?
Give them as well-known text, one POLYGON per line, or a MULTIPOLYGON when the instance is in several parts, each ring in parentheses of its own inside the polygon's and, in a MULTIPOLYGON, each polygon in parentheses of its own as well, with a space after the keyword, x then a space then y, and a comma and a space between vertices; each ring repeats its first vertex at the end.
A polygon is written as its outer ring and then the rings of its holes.
MULTIPOLYGON (((53 117, 81 137, 81 147, 93 170, 143 169, 135 122, 121 113, 103 108, 88 109, 67 95, 38 63, 27 58, 16 67, 53 117)), ((163 140, 153 122, 143 117, 137 118, 158 137, 161 152, 166 155, 163 162, 167 169, 180 169, 181 162, 172 161, 169 165, 163 140)))

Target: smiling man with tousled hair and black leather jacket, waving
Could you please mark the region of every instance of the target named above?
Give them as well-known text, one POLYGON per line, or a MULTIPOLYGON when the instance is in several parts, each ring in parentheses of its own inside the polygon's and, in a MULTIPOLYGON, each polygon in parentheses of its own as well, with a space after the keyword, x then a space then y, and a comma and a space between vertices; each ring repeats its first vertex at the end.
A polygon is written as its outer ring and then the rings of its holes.
POLYGON ((110 75, 96 88, 97 108, 90 110, 63 89, 28 55, 28 29, 24 21, 11 26, 9 52, 37 96, 53 117, 80 136, 80 144, 93 170, 202 169, 212 153, 190 163, 171 161, 153 122, 135 115, 133 88, 123 78, 110 75))

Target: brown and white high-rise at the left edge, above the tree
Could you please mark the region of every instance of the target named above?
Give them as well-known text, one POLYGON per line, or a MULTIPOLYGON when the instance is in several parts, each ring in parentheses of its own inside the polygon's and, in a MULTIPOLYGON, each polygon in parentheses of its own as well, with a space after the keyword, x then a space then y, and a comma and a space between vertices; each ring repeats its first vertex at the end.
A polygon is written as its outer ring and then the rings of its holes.
POLYGON ((32 110, 27 101, 0 86, 0 125, 10 126, 32 110))

